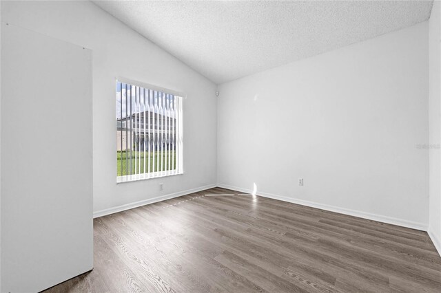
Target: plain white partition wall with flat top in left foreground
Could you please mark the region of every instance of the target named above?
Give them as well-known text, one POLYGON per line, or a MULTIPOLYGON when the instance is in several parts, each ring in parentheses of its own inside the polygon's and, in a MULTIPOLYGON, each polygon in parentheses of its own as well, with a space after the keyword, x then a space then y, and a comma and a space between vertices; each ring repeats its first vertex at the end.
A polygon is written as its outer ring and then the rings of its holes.
POLYGON ((1 23, 1 292, 92 270, 92 51, 1 23))

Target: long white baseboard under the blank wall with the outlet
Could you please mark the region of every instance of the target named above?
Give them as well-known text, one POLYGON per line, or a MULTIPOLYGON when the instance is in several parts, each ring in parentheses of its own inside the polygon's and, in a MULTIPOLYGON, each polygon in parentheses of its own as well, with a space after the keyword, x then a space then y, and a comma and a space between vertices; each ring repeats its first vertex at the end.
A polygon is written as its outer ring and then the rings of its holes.
MULTIPOLYGON (((218 187, 232 189, 234 191, 240 191, 240 192, 243 192, 243 193, 252 193, 251 189, 240 188, 240 187, 237 187, 237 186, 229 186, 229 185, 226 185, 226 184, 218 184, 218 187)), ((380 221, 380 222, 383 222, 383 223, 392 224, 392 225, 396 225, 396 226, 402 226, 402 227, 406 227, 406 228, 427 231, 427 224, 422 224, 422 223, 418 223, 418 222, 414 222, 414 221, 408 221, 408 220, 405 220, 405 219, 397 219, 397 218, 393 218, 393 217, 387 217, 387 216, 384 216, 384 215, 376 215, 376 214, 372 214, 372 213, 362 212, 360 210, 351 210, 351 209, 348 209, 348 208, 339 208, 338 206, 329 206, 327 204, 319 204, 317 202, 309 202, 309 201, 304 200, 304 199, 295 199, 295 198, 285 197, 285 196, 281 196, 281 195, 274 195, 274 194, 271 194, 271 193, 258 192, 258 193, 256 193, 256 195, 259 195, 259 196, 262 196, 262 197, 268 197, 268 198, 272 198, 272 199, 278 199, 278 200, 281 200, 283 202, 291 202, 293 204, 300 204, 302 206, 309 206, 311 208, 320 208, 322 210, 329 210, 331 212, 340 213, 340 214, 343 214, 343 215, 350 215, 350 216, 353 216, 353 217, 360 217, 360 218, 363 218, 363 219, 370 219, 372 221, 380 221)))

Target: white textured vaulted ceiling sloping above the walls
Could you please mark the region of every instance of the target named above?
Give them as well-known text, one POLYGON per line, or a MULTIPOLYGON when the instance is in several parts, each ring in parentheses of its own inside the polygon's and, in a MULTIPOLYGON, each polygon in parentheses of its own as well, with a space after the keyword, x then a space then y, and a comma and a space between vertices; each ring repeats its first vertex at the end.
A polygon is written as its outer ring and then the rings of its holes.
POLYGON ((214 83, 429 19, 433 1, 94 1, 214 83))

